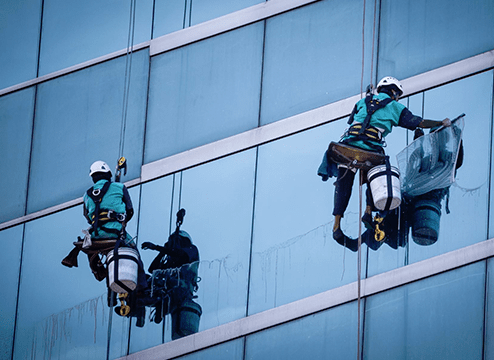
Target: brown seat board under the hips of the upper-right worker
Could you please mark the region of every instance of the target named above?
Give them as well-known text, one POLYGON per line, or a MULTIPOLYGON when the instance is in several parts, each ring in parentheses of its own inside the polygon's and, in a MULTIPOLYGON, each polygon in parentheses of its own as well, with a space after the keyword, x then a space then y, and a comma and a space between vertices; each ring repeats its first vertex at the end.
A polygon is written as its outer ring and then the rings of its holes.
POLYGON ((327 151, 328 160, 353 169, 370 170, 385 163, 385 155, 355 146, 331 142, 327 151))

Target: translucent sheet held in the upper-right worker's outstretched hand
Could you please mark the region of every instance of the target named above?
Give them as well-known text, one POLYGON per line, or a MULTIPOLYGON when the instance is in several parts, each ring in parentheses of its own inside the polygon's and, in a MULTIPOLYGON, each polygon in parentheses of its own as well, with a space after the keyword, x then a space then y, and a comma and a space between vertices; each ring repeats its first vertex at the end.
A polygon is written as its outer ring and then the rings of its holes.
POLYGON ((398 153, 403 196, 443 189, 455 181, 464 116, 458 116, 450 127, 440 127, 417 138, 398 153))

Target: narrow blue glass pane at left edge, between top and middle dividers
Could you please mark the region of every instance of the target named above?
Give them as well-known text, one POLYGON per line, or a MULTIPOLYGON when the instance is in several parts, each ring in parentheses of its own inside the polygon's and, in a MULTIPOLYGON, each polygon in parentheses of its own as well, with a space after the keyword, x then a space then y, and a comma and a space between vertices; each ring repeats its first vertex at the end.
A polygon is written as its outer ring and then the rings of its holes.
POLYGON ((33 110, 34 88, 0 98, 0 223, 24 215, 33 110))

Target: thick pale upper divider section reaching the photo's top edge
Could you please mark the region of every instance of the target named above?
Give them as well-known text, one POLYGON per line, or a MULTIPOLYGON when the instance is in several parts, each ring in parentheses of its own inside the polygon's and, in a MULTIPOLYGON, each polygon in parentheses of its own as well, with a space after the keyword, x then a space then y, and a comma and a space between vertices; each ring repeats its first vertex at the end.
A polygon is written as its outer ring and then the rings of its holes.
POLYGON ((294 10, 320 0, 269 0, 263 3, 223 15, 219 18, 160 36, 151 41, 150 55, 158 55, 184 45, 224 32, 253 24, 257 21, 294 10))

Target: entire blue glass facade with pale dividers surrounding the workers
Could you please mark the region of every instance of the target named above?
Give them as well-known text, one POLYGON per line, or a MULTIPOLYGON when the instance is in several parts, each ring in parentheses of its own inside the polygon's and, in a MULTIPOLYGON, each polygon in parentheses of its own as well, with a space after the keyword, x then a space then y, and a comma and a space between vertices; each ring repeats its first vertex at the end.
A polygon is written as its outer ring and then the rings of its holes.
MULTIPOLYGON (((491 358, 494 4, 179 2, 137 2, 131 62, 130 2, 0 5, 2 358, 491 358), (465 160, 438 241, 363 251, 358 301, 316 171, 383 75, 417 114, 467 114, 465 160), (87 264, 60 265, 85 228, 89 165, 120 147, 139 242, 191 215, 203 315, 179 346, 167 324, 112 316, 87 264)), ((395 130, 388 153, 411 137, 395 130)))

